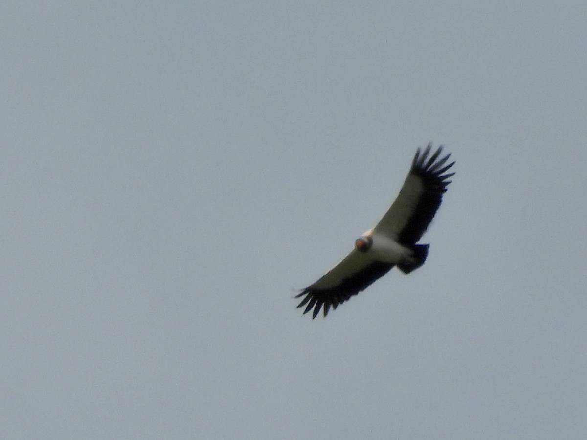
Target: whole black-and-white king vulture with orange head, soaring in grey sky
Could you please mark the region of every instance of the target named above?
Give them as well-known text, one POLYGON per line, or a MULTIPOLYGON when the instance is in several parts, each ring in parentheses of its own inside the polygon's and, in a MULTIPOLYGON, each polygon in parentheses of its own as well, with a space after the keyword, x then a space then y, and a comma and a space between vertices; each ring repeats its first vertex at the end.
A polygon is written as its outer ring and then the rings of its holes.
POLYGON ((303 313, 313 308, 312 319, 320 310, 326 316, 330 307, 357 295, 375 280, 397 266, 410 273, 424 264, 428 246, 416 244, 430 225, 454 172, 443 174, 454 162, 444 165, 450 154, 440 158, 442 145, 430 156, 432 144, 417 149, 403 187, 392 206, 375 226, 355 240, 355 249, 338 265, 296 298, 305 296, 298 307, 303 313))

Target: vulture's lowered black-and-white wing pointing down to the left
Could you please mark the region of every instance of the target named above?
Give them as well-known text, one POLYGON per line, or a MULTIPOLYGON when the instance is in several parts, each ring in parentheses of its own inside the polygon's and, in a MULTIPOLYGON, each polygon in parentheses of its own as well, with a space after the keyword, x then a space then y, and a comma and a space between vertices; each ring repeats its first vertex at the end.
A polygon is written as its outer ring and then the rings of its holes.
POLYGON ((305 295, 298 307, 307 304, 303 313, 308 313, 313 307, 312 319, 323 307, 326 316, 331 306, 336 309, 338 304, 365 290, 393 266, 393 263, 369 259, 364 253, 353 249, 326 275, 296 295, 296 298, 305 295))

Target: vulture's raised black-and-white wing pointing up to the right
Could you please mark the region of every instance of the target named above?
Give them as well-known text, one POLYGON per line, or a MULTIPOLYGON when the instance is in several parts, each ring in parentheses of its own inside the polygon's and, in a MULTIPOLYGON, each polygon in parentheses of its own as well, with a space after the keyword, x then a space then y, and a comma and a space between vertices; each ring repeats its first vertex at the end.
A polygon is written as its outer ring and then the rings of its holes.
POLYGON ((400 193, 387 210, 374 232, 394 238, 402 245, 414 245, 426 232, 450 184, 454 172, 443 174, 454 162, 444 165, 450 154, 440 158, 442 145, 428 158, 432 144, 421 152, 416 151, 410 172, 400 193))

